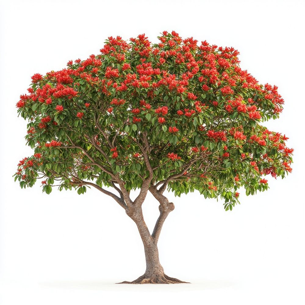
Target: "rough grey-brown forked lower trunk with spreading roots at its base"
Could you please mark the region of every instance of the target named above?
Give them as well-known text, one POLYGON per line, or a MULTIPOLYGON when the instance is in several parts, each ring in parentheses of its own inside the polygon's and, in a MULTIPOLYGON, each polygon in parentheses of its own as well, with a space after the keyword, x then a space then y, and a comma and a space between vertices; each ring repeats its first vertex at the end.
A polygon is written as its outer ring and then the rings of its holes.
MULTIPOLYGON (((177 278, 171 278, 164 274, 163 267, 160 264, 159 261, 159 252, 157 247, 158 238, 154 235, 149 234, 148 228, 144 222, 142 209, 141 213, 137 211, 136 216, 133 217, 133 215, 129 215, 137 224, 138 230, 140 232, 142 242, 144 245, 144 252, 145 252, 145 260, 146 260, 146 271, 143 275, 141 275, 139 278, 132 282, 121 282, 119 284, 178 284, 178 283, 187 283, 178 280, 177 278)), ((157 220, 156 227, 158 230, 158 237, 160 234, 160 223, 163 224, 164 217, 162 217, 163 212, 160 210, 160 217, 157 220)), ((161 226, 162 226, 161 224, 161 226)))

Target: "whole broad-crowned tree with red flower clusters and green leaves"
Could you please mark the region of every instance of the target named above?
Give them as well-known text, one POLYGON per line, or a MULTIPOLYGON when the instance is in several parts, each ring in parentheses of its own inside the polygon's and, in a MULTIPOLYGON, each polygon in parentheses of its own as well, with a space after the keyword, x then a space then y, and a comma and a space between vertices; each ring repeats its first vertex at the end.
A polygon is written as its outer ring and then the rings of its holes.
POLYGON ((277 87, 242 70, 233 48, 174 31, 158 39, 109 37, 99 55, 33 75, 16 105, 29 120, 34 155, 20 161, 15 181, 26 188, 41 179, 47 194, 54 186, 78 194, 94 187, 112 197, 144 244, 146 271, 131 283, 182 282, 159 262, 161 228, 174 210, 166 189, 220 197, 232 210, 239 188, 253 195, 268 188, 262 176, 291 172, 288 138, 261 125, 282 111, 277 87), (152 233, 142 214, 148 192, 160 203, 152 233))

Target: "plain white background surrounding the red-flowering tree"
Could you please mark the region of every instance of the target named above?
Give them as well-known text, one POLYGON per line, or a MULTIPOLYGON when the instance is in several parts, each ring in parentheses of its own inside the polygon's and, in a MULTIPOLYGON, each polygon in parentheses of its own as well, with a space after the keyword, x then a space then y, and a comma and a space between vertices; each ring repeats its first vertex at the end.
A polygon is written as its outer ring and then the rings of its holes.
MULTIPOLYGON (((2 1, 1 304, 303 304, 304 294, 304 5, 301 1, 2 1), (225 212, 199 193, 175 198, 159 241, 165 272, 192 284, 115 285, 144 273, 135 224, 111 198, 40 185, 21 190, 12 175, 25 146, 26 122, 15 104, 34 73, 60 70, 97 54, 104 40, 163 30, 233 46, 242 69, 276 84, 279 120, 295 149, 288 178, 225 212)), ((158 204, 148 196, 152 230, 158 204)))

